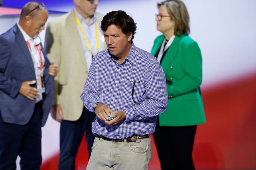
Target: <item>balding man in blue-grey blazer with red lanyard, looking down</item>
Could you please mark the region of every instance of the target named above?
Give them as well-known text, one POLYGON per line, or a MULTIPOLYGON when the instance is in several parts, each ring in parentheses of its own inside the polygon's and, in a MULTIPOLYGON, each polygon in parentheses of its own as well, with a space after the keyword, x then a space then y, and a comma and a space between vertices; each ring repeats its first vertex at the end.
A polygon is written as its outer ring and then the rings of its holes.
POLYGON ((40 170, 41 126, 51 108, 58 68, 46 57, 40 31, 44 4, 28 2, 20 20, 0 35, 0 170, 40 170))

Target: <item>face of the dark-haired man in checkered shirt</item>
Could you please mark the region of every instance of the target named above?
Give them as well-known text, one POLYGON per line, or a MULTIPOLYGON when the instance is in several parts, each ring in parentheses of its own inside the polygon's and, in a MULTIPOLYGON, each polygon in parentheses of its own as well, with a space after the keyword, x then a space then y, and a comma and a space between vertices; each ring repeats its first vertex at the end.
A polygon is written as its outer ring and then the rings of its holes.
POLYGON ((132 33, 126 36, 121 28, 112 24, 104 31, 104 37, 108 50, 118 59, 124 60, 130 52, 132 33))

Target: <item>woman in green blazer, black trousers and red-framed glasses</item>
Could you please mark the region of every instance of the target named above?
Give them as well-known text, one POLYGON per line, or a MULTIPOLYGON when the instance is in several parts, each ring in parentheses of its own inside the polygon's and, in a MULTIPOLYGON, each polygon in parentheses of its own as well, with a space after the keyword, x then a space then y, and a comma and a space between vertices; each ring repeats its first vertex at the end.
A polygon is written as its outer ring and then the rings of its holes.
POLYGON ((157 4, 157 30, 152 55, 166 75, 168 107, 158 116, 154 141, 162 170, 194 170, 192 150, 196 126, 205 123, 200 84, 202 56, 188 34, 189 15, 181 0, 157 4))

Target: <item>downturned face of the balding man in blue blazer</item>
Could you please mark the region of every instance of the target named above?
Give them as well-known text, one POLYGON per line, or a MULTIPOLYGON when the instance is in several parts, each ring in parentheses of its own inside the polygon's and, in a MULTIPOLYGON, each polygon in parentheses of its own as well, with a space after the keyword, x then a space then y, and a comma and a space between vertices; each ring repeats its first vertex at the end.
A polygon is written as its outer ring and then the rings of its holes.
MULTIPOLYGON (((27 16, 30 17, 30 16, 27 16)), ((39 35, 39 33, 44 30, 45 23, 48 18, 48 13, 46 10, 38 10, 37 16, 34 16, 34 18, 30 17, 27 22, 27 31, 26 33, 34 38, 39 35)))

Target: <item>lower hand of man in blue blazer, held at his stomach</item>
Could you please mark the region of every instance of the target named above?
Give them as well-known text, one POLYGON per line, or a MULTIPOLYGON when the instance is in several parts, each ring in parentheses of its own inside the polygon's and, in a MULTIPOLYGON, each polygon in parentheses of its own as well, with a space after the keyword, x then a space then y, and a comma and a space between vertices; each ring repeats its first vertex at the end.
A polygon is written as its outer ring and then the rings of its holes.
POLYGON ((22 94, 29 100, 36 99, 39 90, 30 86, 31 84, 35 84, 35 83, 36 83, 36 80, 22 82, 22 85, 21 85, 20 91, 19 91, 20 94, 22 94))

